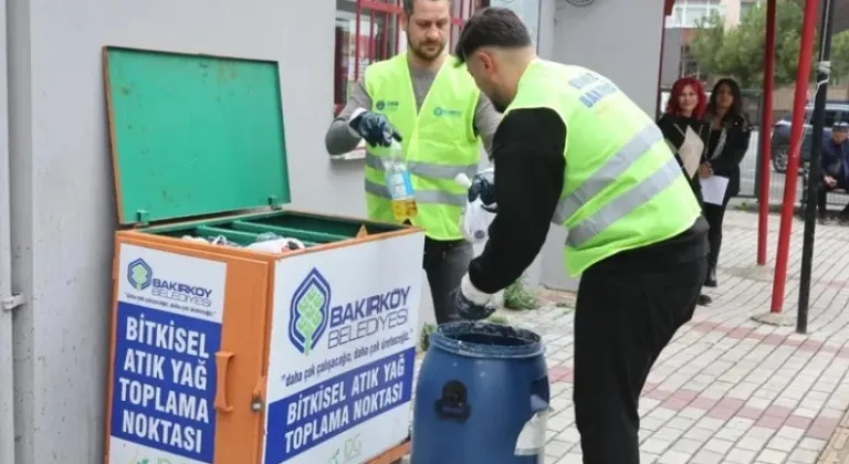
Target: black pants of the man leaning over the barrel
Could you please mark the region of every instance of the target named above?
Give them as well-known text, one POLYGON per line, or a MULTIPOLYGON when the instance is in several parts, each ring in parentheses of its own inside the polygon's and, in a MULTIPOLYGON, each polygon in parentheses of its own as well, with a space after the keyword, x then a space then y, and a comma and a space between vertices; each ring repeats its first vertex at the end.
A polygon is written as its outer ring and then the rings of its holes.
POLYGON ((640 392, 660 351, 693 316, 706 272, 704 259, 657 267, 602 261, 580 277, 574 401, 584 464, 640 462, 640 392))

